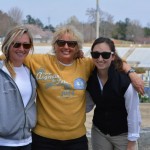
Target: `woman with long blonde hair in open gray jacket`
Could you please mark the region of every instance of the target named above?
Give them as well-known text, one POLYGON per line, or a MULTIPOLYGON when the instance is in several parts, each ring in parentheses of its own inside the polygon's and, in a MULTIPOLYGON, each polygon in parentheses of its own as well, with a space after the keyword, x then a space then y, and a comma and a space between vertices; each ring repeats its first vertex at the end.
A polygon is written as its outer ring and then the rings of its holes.
POLYGON ((11 29, 2 43, 0 61, 0 150, 31 150, 36 124, 36 82, 23 61, 33 49, 24 26, 11 29))

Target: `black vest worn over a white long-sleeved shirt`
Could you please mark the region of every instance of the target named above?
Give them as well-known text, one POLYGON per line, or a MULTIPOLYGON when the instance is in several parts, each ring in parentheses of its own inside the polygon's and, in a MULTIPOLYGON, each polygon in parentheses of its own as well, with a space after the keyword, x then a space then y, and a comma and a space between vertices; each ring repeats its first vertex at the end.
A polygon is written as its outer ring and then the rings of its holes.
POLYGON ((128 132, 124 94, 130 84, 129 77, 118 72, 113 65, 108 80, 101 90, 95 68, 87 84, 87 90, 96 104, 93 124, 104 134, 111 136, 128 132))

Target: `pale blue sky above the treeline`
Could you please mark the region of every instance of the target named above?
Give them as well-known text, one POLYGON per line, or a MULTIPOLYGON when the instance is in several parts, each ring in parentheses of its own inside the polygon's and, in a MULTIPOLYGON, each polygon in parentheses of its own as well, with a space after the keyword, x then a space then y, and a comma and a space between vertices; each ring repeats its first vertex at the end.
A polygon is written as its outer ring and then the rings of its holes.
MULTIPOLYGON (((8 12, 18 7, 27 15, 39 18, 45 25, 56 26, 69 17, 76 16, 79 21, 87 22, 87 8, 96 8, 96 0, 1 0, 0 10, 8 12)), ((150 0, 99 0, 102 11, 114 17, 114 21, 125 18, 139 20, 142 26, 150 24, 150 0)))

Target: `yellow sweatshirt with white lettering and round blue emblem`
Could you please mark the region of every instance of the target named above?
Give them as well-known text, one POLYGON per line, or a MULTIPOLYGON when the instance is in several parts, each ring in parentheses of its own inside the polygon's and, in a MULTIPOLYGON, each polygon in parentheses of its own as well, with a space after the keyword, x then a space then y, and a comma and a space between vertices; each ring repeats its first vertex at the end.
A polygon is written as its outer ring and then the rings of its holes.
POLYGON ((40 136, 69 140, 86 134, 85 89, 94 65, 90 58, 64 66, 55 56, 33 54, 25 64, 37 80, 37 125, 40 136))

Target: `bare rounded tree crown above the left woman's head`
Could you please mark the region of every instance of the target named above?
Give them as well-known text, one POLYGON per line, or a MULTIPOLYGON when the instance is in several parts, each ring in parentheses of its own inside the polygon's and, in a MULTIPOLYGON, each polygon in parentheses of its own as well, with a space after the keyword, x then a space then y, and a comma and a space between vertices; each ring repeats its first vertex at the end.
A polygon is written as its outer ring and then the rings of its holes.
POLYGON ((22 23, 23 13, 18 7, 13 7, 8 11, 8 15, 12 18, 12 22, 16 24, 22 23))

